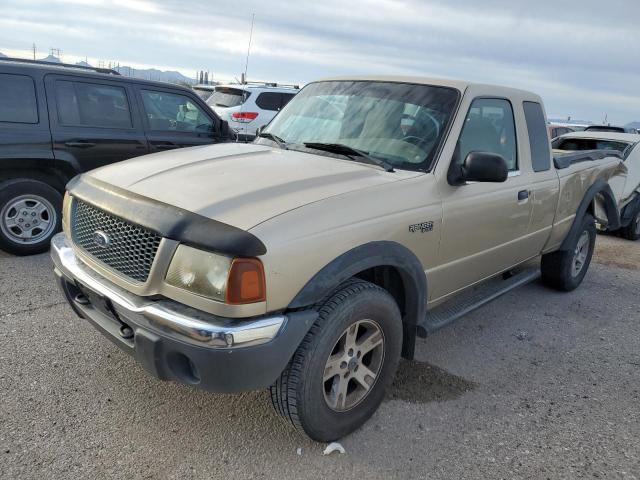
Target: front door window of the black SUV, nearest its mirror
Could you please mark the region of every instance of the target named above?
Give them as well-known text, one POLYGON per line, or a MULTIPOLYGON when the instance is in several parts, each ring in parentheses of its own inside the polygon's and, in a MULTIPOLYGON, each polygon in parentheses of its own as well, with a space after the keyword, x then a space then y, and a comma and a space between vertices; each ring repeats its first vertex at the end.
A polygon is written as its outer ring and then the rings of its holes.
POLYGON ((183 133, 213 131, 211 117, 188 96, 155 90, 141 90, 140 94, 151 130, 183 133))

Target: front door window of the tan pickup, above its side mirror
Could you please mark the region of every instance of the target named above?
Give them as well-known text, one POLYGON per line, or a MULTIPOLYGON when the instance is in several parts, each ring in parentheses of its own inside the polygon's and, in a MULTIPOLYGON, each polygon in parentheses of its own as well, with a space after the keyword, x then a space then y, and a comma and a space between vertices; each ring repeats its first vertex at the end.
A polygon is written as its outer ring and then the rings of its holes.
POLYGON ((461 162, 471 152, 489 152, 501 155, 507 161, 509 171, 518 169, 515 120, 507 100, 475 99, 459 141, 461 162))

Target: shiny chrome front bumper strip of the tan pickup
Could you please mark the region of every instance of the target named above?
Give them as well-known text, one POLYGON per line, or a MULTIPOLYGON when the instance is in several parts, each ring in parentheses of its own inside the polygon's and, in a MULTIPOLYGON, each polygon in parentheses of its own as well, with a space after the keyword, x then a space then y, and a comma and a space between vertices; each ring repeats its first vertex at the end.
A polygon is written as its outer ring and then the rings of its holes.
POLYGON ((51 240, 51 258, 64 277, 108 298, 125 320, 192 345, 216 349, 261 345, 273 340, 287 322, 285 315, 252 320, 216 317, 173 301, 133 295, 86 267, 64 233, 51 240))

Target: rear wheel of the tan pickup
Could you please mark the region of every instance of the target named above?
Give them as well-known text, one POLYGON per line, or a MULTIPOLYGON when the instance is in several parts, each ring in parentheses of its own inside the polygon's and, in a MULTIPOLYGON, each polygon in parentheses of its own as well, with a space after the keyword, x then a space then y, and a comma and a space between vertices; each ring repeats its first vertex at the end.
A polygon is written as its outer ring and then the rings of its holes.
POLYGON ((575 290, 589 270, 595 243, 595 221, 586 214, 570 248, 542 256, 542 281, 556 290, 575 290))

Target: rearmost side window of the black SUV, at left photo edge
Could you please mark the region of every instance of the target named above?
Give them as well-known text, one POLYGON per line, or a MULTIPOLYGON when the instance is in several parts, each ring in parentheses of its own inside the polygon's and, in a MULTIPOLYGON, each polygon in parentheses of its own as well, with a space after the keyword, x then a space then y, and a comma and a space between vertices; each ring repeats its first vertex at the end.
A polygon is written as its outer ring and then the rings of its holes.
POLYGON ((36 88, 31 77, 0 74, 0 122, 38 123, 36 88))

